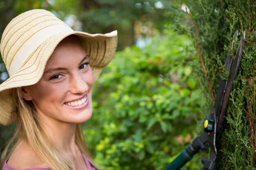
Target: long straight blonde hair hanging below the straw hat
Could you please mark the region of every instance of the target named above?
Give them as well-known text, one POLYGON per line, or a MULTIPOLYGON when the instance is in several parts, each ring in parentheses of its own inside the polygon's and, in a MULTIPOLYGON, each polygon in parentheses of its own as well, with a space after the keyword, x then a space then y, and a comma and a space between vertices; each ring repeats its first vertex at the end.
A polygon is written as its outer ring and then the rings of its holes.
MULTIPOLYGON (((14 148, 20 144, 20 141, 25 141, 51 170, 75 170, 74 165, 61 156, 61 151, 53 146, 45 134, 42 121, 36 114, 34 105, 22 98, 21 88, 14 88, 11 91, 15 106, 12 115, 17 120, 16 133, 2 153, 0 167, 3 167, 4 161, 11 155, 14 148)), ((76 125, 75 142, 92 166, 99 170, 85 144, 81 124, 76 125)))

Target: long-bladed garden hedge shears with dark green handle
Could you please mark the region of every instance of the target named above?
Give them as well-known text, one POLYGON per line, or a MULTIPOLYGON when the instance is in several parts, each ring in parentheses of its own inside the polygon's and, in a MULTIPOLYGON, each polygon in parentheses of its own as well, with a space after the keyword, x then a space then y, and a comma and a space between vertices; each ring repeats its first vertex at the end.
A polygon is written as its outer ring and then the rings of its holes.
MULTIPOLYGON (((234 41, 237 38, 237 35, 238 31, 234 34, 231 49, 234 47, 234 41)), ((205 144, 207 142, 209 143, 211 151, 209 159, 202 159, 202 163, 204 164, 203 170, 214 170, 217 157, 216 133, 220 130, 222 121, 225 117, 229 96, 233 88, 233 81, 236 78, 240 64, 244 41, 245 32, 243 32, 240 39, 232 67, 231 63, 233 57, 230 54, 227 55, 225 69, 229 72, 229 77, 220 81, 216 101, 211 111, 211 115, 207 116, 204 121, 204 132, 199 137, 196 137, 192 144, 190 144, 186 149, 182 150, 180 155, 178 155, 164 170, 180 170, 180 168, 182 168, 187 161, 192 159, 193 155, 195 155, 199 150, 206 150, 205 144)))

